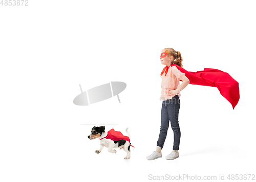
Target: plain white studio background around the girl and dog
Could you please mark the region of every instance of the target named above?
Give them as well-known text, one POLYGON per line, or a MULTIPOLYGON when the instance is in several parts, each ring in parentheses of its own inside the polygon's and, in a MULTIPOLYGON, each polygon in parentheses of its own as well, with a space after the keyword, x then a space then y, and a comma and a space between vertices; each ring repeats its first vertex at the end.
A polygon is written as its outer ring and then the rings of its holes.
POLYGON ((29 1, 0 6, 1 181, 150 180, 149 175, 255 174, 254 1, 29 1), (181 92, 180 158, 169 128, 163 158, 147 161, 160 129, 159 56, 181 52, 188 71, 216 68, 239 82, 231 104, 217 88, 181 92), (117 97, 76 106, 82 89, 120 81, 117 97), (125 152, 100 154, 91 128, 125 134, 125 152))

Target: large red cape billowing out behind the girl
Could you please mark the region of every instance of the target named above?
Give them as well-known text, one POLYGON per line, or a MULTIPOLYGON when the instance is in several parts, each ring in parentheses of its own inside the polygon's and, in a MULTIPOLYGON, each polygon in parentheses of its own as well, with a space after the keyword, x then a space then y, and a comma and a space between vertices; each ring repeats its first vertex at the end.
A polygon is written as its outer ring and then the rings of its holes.
POLYGON ((189 84, 217 87, 223 97, 232 105, 233 109, 239 101, 239 85, 228 73, 218 69, 204 68, 203 71, 191 72, 176 66, 190 81, 189 84))

